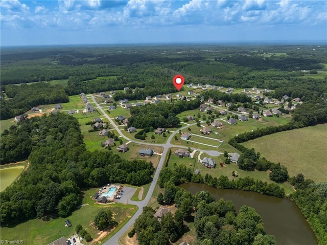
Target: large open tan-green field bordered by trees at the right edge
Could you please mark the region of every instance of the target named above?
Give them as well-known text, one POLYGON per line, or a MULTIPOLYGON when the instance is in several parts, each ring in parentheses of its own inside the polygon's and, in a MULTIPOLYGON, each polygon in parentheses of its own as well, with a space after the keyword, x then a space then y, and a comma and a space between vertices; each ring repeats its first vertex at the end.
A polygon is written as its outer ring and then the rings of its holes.
POLYGON ((285 165, 289 175, 298 173, 315 182, 327 180, 327 124, 278 132, 243 143, 262 157, 285 165))

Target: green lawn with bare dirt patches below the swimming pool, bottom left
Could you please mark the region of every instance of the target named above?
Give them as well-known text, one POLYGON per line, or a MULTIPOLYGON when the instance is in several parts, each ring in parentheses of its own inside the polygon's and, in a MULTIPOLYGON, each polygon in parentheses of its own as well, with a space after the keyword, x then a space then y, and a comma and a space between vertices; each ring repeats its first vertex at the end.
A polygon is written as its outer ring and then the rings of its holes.
MULTIPOLYGON (((48 244, 62 236, 69 237, 75 233, 75 227, 81 224, 83 228, 94 238, 91 242, 85 242, 84 244, 97 244, 96 239, 101 232, 92 225, 92 220, 101 209, 109 208, 114 213, 114 219, 119 222, 119 226, 116 227, 113 232, 118 231, 123 224, 125 224, 129 218, 136 212, 137 207, 126 204, 111 204, 111 205, 97 205, 91 200, 90 196, 94 194, 96 189, 89 189, 84 192, 84 201, 88 205, 81 207, 73 212, 73 214, 66 218, 54 218, 49 221, 43 221, 42 219, 32 219, 21 223, 12 228, 0 228, 1 239, 4 240, 23 240, 24 244, 48 244), (86 199, 88 199, 86 201, 86 199), (69 219, 72 222, 72 227, 65 227, 65 219, 69 219)), ((103 238, 107 240, 109 236, 103 238)))

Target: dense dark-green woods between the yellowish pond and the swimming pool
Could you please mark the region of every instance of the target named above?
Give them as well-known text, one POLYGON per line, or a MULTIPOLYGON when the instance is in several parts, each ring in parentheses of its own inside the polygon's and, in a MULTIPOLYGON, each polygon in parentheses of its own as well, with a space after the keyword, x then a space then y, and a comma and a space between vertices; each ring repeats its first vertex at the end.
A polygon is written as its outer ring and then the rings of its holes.
MULTIPOLYGON (((127 161, 110 151, 85 149, 78 121, 66 114, 20 121, 2 135, 1 154, 29 155, 30 167, 1 197, 1 225, 35 217, 65 217, 80 204, 80 188, 112 183, 144 185, 151 182, 152 163, 127 161), (24 135, 20 136, 23 130, 24 135), (11 139, 21 137, 21 144, 11 139), (20 149, 26 145, 26 149, 20 149), (4 152, 4 153, 3 153, 4 152)), ((18 158, 18 157, 17 157, 18 158)))

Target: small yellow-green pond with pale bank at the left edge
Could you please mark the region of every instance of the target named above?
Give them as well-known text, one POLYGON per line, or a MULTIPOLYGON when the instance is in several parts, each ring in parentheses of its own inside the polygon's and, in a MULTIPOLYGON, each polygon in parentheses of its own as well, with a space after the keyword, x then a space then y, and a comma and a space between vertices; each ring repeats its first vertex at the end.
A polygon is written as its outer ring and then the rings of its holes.
POLYGON ((2 165, 0 169, 0 192, 10 186, 27 166, 27 161, 2 165))

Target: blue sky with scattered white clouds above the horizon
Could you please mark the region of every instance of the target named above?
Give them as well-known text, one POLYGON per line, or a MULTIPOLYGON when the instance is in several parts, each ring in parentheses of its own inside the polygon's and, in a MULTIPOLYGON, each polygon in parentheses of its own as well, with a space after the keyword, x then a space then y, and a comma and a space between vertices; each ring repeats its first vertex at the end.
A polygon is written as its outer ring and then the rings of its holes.
POLYGON ((327 1, 1 0, 1 46, 327 40, 327 1))

